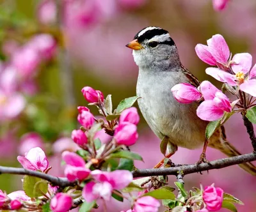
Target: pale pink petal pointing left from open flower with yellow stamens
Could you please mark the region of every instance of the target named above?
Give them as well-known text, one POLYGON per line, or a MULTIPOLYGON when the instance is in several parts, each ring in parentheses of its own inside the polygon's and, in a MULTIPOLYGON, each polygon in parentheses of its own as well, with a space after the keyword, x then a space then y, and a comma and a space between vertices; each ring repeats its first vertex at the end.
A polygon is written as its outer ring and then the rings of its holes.
POLYGON ((206 68, 205 73, 212 76, 220 82, 227 82, 230 86, 236 86, 236 76, 227 72, 223 72, 220 68, 206 68))

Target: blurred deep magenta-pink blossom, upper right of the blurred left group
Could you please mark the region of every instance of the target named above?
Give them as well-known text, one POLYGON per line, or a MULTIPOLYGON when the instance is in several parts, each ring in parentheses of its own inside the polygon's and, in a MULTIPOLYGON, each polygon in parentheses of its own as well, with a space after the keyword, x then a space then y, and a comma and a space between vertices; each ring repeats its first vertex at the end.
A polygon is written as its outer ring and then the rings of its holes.
POLYGON ((38 34, 28 43, 29 47, 38 51, 44 59, 51 59, 56 52, 56 40, 51 34, 38 34))

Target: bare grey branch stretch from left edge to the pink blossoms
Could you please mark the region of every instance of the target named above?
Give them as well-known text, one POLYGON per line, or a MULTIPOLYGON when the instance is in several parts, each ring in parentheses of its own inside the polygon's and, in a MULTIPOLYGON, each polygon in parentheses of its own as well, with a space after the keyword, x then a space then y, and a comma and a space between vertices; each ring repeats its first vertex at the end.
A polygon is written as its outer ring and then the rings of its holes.
POLYGON ((74 186, 77 184, 76 181, 70 182, 67 178, 58 178, 54 177, 50 174, 45 174, 42 172, 37 172, 35 170, 28 170, 28 169, 22 169, 22 168, 15 168, 15 167, 3 167, 0 166, 0 174, 19 174, 19 175, 29 175, 34 176, 37 178, 45 179, 52 183, 54 186, 60 186, 61 188, 67 187, 67 186, 74 186))

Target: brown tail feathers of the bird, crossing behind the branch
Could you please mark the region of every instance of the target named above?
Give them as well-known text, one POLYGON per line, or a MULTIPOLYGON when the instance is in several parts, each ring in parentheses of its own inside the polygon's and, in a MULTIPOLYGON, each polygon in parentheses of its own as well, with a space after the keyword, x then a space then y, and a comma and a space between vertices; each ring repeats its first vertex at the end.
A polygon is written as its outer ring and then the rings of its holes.
MULTIPOLYGON (((229 157, 242 155, 241 153, 239 153, 239 151, 237 151, 237 149, 232 144, 230 144, 227 141, 223 142, 221 145, 221 148, 218 147, 218 149, 229 157)), ((247 163, 240 163, 238 165, 239 167, 244 169, 246 172, 252 174, 253 176, 256 176, 256 167, 252 163, 247 162, 247 163)))

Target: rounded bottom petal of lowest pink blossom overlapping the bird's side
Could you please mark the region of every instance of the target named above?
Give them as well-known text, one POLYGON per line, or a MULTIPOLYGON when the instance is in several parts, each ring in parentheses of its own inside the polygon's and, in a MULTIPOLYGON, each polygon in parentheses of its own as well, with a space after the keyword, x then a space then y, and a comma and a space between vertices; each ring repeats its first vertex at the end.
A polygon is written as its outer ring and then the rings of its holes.
POLYGON ((202 120, 216 121, 223 116, 224 110, 216 107, 213 100, 205 100, 198 106, 196 114, 202 120))

